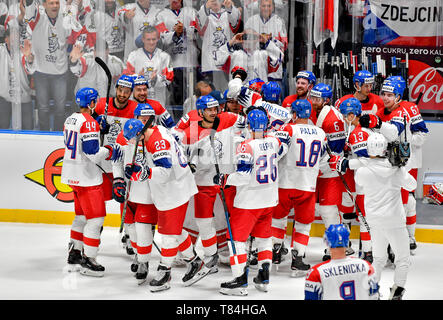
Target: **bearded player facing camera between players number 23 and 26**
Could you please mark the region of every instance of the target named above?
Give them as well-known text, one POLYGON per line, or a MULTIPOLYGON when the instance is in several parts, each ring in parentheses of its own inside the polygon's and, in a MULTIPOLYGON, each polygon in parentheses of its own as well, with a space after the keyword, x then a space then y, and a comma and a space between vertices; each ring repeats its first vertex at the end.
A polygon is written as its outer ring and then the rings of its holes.
MULTIPOLYGON (((220 186, 214 183, 217 174, 214 167, 214 157, 223 155, 233 159, 235 145, 241 140, 240 134, 245 126, 245 119, 241 115, 230 112, 219 113, 219 104, 212 96, 202 96, 197 100, 197 110, 202 118, 198 123, 191 124, 184 130, 183 145, 189 162, 194 168, 194 177, 198 193, 194 196, 194 217, 200 235, 205 262, 200 274, 216 272, 218 260, 216 227, 218 220, 224 220, 223 212, 214 211, 216 197, 220 193, 220 186), (212 132, 214 131, 215 132, 212 132), (211 142, 211 139, 213 141, 211 142), (212 145, 216 148, 213 150, 212 145), (217 154, 216 154, 217 153, 217 154), (216 215, 216 216, 215 216, 216 215), (209 269, 208 269, 209 268, 209 269), (207 270, 206 270, 207 269, 207 270)), ((230 161, 221 161, 222 167, 230 161)), ((222 169, 223 170, 223 169, 222 169)), ((223 170, 225 173, 230 171, 223 170)), ((232 207, 234 188, 225 191, 226 202, 232 207)), ((225 224, 222 225, 226 229, 225 224)))

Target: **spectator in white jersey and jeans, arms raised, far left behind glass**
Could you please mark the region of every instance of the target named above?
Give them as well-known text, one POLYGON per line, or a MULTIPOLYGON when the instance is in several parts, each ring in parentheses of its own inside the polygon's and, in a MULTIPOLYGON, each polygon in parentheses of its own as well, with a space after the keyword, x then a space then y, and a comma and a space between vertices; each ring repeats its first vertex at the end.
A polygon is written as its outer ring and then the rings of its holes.
POLYGON ((35 52, 34 83, 40 130, 51 129, 51 99, 54 101, 52 129, 61 131, 63 128, 66 118, 68 37, 82 28, 75 16, 74 13, 60 10, 59 0, 43 0, 42 5, 34 0, 25 1, 25 19, 32 30, 32 47, 35 52))

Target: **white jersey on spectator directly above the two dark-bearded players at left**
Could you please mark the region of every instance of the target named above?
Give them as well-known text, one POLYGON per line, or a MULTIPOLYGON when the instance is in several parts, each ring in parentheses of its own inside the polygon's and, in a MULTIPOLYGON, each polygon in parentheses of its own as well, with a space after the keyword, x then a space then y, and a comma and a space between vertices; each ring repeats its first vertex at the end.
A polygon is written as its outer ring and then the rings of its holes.
POLYGON ((149 53, 144 48, 139 48, 129 54, 126 61, 124 74, 144 75, 149 81, 148 99, 157 100, 166 105, 166 86, 174 79, 171 56, 163 50, 156 48, 149 53), (156 76, 151 79, 153 73, 156 76))

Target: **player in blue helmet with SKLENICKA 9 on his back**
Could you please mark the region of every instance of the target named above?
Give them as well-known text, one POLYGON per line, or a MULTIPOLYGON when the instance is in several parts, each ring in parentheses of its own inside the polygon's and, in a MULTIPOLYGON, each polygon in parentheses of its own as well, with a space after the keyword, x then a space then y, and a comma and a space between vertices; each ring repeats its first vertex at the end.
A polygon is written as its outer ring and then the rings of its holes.
POLYGON ((374 267, 367 261, 346 256, 350 232, 343 224, 331 224, 325 241, 331 260, 309 270, 305 300, 378 300, 374 267))

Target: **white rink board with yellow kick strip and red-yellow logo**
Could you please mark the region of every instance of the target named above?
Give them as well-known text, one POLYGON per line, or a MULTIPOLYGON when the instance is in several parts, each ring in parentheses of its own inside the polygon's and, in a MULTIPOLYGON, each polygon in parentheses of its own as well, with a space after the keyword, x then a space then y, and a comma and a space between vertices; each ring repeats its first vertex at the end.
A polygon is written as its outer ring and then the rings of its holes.
MULTIPOLYGON (((60 182, 63 160, 63 137, 60 134, 0 133, 0 222, 27 222, 69 225, 74 219, 72 189, 60 182)), ((435 170, 435 169, 434 169, 435 170)), ((120 226, 119 204, 107 201, 105 226, 120 226)), ((217 228, 226 228, 223 207, 216 202, 217 228)), ((196 230, 190 201, 185 226, 196 230)), ((288 223, 287 233, 292 231, 288 223)), ((323 236, 321 221, 312 224, 311 236, 323 236)), ((359 226, 352 226, 351 238, 359 237, 359 226)), ((443 243, 440 226, 417 225, 419 242, 443 243)))

